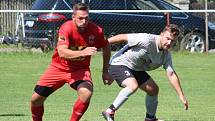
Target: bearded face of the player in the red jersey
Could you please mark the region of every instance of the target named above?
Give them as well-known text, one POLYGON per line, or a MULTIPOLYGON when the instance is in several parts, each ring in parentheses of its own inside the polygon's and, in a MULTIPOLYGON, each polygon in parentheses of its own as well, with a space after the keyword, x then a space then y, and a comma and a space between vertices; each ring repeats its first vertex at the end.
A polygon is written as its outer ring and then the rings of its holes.
POLYGON ((89 23, 88 11, 84 10, 75 11, 75 13, 73 14, 73 21, 80 32, 85 31, 89 23))

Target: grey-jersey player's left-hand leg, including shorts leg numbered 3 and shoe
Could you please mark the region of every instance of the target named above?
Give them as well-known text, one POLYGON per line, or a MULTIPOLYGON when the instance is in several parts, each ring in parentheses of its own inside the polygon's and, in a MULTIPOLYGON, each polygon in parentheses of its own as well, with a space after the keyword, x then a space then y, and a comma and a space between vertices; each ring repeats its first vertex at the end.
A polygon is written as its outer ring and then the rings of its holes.
POLYGON ((114 121, 114 112, 138 89, 138 83, 133 76, 132 70, 125 66, 111 65, 109 71, 119 86, 123 87, 110 107, 105 112, 102 112, 107 121, 114 121))

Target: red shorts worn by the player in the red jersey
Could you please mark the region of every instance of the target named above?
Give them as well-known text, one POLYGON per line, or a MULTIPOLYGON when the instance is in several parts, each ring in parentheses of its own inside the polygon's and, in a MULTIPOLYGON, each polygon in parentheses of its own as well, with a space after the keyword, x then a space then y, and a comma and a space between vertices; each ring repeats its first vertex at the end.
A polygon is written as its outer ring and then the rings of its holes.
POLYGON ((40 77, 40 80, 37 82, 37 85, 51 87, 53 90, 57 90, 65 83, 71 85, 74 82, 80 80, 89 81, 92 84, 89 68, 79 69, 71 72, 50 65, 45 71, 45 73, 40 77))

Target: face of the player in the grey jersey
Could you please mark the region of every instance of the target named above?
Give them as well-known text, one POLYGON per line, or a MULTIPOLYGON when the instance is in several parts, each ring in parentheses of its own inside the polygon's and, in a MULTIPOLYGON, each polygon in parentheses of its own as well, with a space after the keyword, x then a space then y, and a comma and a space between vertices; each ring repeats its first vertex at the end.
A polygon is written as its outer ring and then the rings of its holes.
POLYGON ((174 45, 175 39, 176 38, 169 31, 161 33, 161 48, 164 50, 170 49, 174 45))

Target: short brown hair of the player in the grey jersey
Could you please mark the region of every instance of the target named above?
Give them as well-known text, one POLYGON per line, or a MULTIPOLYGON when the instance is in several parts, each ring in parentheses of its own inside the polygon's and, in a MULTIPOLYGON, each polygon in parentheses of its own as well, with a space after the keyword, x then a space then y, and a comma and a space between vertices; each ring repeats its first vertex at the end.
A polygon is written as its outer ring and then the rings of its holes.
POLYGON ((180 29, 176 24, 170 24, 166 26, 162 32, 169 31, 173 36, 178 37, 180 34, 180 29))

